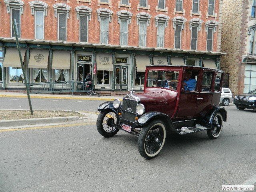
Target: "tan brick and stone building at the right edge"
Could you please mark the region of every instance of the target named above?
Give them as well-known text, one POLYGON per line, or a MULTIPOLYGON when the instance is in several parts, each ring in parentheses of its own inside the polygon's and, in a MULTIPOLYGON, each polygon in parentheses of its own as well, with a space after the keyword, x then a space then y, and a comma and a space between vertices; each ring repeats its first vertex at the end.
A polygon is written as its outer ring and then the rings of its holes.
POLYGON ((220 69, 233 94, 256 89, 256 1, 223 0, 220 69))

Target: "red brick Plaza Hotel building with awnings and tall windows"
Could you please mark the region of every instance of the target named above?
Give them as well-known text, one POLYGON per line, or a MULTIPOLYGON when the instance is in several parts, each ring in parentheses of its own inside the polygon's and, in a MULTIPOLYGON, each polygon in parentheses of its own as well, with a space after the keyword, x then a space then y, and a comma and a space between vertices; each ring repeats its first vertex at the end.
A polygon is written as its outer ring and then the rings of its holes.
POLYGON ((24 89, 12 19, 32 84, 90 73, 96 89, 141 90, 146 65, 220 68, 223 55, 222 0, 0 0, 0 16, 2 89, 24 89))

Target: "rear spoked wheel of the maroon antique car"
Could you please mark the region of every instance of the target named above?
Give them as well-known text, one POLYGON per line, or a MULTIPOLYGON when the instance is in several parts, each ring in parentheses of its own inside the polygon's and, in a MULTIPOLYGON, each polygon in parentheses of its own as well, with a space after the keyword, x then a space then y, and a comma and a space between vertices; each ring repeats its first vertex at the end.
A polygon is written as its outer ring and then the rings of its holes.
POLYGON ((207 135, 211 139, 216 139, 220 135, 223 127, 223 117, 221 113, 216 113, 212 121, 212 128, 207 130, 207 135))

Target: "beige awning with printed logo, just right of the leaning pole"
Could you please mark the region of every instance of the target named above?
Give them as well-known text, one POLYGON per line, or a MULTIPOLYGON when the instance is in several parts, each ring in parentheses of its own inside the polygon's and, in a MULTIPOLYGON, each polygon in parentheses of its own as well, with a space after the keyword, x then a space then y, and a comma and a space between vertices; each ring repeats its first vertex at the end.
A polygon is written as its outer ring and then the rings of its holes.
POLYGON ((45 68, 48 66, 49 50, 47 49, 32 49, 28 62, 29 68, 45 68))

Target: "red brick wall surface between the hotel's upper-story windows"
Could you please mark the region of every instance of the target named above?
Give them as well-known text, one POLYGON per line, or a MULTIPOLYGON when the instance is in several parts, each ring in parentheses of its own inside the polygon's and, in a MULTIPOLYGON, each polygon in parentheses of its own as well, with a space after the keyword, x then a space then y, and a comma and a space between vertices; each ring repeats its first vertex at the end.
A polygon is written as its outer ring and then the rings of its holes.
MULTIPOLYGON (((31 0, 23 0, 25 3, 24 14, 21 16, 21 38, 22 39, 34 39, 34 16, 31 15, 31 8, 29 2, 31 0)), ((76 6, 88 6, 92 8, 91 20, 88 22, 88 42, 89 43, 99 43, 100 42, 100 23, 98 22, 98 16, 96 10, 98 8, 107 8, 113 11, 112 22, 109 24, 109 44, 118 45, 119 44, 119 28, 120 24, 117 23, 116 12, 120 10, 127 10, 132 12, 132 21, 128 27, 128 45, 129 46, 138 46, 138 30, 139 26, 137 25, 136 14, 140 12, 146 12, 152 15, 150 19, 150 26, 147 28, 147 47, 156 47, 156 34, 157 28, 155 26, 154 17, 158 14, 165 14, 165 12, 158 11, 156 13, 156 6, 158 0, 149 0, 148 4, 150 5, 150 12, 147 10, 137 10, 138 0, 129 0, 132 5, 131 10, 125 7, 118 8, 118 0, 112 0, 112 7, 108 5, 98 6, 97 0, 92 0, 91 5, 86 2, 80 2, 77 4, 76 0, 70 0, 70 3, 67 3, 66 0, 42 0, 48 4, 47 17, 45 17, 45 29, 44 29, 44 39, 50 41, 57 41, 57 21, 58 19, 54 17, 54 8, 53 5, 56 3, 64 3, 71 7, 70 18, 67 20, 67 41, 68 42, 79 42, 79 20, 76 19, 76 6)), ((168 7, 168 15, 170 20, 168 21, 168 27, 165 28, 165 46, 164 48, 174 48, 174 29, 172 28, 172 18, 176 16, 183 16, 180 13, 174 15, 173 9, 175 8, 175 0, 166 0, 166 7, 168 7)), ((193 15, 190 17, 190 10, 192 9, 192 0, 184 0, 183 9, 185 10, 184 18, 187 19, 184 30, 182 30, 182 50, 190 50, 190 37, 191 31, 189 30, 189 20, 192 18, 199 18, 199 16, 193 15)), ((215 0, 215 13, 218 15, 219 10, 219 0, 215 0)), ((208 20, 214 20, 214 18, 206 18, 206 12, 208 12, 208 1, 201 0, 199 11, 202 13, 200 18, 204 22, 208 20)), ((10 38, 10 14, 6 12, 6 4, 3 0, 0 3, 0 37, 10 38)), ((218 17, 217 20, 218 21, 218 17)), ((217 30, 218 31, 218 30, 217 30)), ((205 25, 202 24, 201 31, 198 32, 198 50, 206 51, 206 35, 205 25)), ((213 51, 217 50, 217 36, 218 32, 214 33, 214 42, 213 42, 213 51)))

